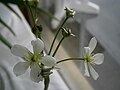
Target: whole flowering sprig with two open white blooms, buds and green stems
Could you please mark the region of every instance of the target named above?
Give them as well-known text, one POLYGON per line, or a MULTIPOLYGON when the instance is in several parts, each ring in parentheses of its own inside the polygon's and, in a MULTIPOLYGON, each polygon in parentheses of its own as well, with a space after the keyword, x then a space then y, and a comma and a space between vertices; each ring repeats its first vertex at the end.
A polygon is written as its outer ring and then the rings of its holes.
POLYGON ((56 61, 54 56, 56 55, 63 40, 70 36, 73 37, 75 36, 74 34, 72 34, 71 29, 63 27, 67 19, 74 16, 75 11, 69 8, 66 8, 65 11, 66 11, 66 18, 64 19, 60 28, 58 29, 52 41, 48 54, 44 53, 45 45, 41 40, 41 36, 40 36, 42 33, 42 27, 36 24, 32 28, 33 34, 36 36, 36 39, 31 41, 31 44, 33 46, 33 52, 29 51, 26 47, 18 44, 14 45, 11 48, 12 54, 21 57, 24 60, 23 62, 19 62, 14 66, 13 72, 15 73, 15 75, 16 76, 22 75, 26 72, 28 68, 30 68, 30 77, 32 81, 39 83, 44 79, 44 85, 45 85, 44 90, 48 89, 49 80, 50 80, 49 76, 50 74, 52 74, 52 70, 55 68, 57 64, 61 62, 68 60, 82 60, 84 62, 84 67, 85 67, 85 76, 90 77, 91 75, 94 80, 97 80, 99 75, 94 70, 93 65, 102 64, 104 61, 104 55, 102 53, 93 54, 93 50, 97 45, 97 40, 95 37, 93 37, 90 40, 88 47, 84 47, 85 53, 82 58, 67 58, 56 61), (53 50, 53 46, 59 32, 61 32, 62 38, 59 41, 56 48, 54 49, 55 51, 51 55, 51 51, 53 50))

